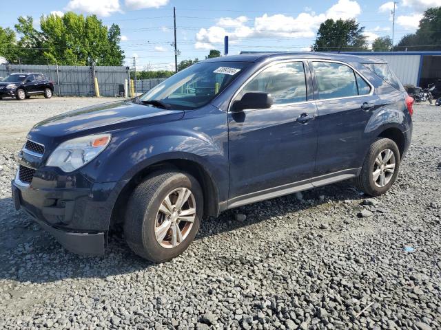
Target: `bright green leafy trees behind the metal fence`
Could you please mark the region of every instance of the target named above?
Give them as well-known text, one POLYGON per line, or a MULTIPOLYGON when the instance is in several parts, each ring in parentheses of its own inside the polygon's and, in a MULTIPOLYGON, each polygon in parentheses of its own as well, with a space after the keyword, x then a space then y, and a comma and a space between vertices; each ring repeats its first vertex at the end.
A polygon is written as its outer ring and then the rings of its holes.
POLYGON ((12 50, 5 56, 10 63, 122 65, 124 61, 119 26, 107 28, 95 15, 43 15, 40 30, 34 28, 32 17, 19 17, 14 28, 20 39, 7 46, 12 50))

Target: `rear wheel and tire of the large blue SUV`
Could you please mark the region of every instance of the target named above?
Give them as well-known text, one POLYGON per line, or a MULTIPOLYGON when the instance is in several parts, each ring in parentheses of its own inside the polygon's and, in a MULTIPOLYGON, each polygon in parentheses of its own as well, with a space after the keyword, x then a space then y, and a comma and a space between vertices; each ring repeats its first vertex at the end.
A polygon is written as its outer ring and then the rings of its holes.
POLYGON ((396 180, 399 168, 400 151, 396 143, 387 138, 376 140, 369 148, 360 175, 354 179, 355 186, 366 195, 373 197, 383 195, 396 180), (391 151, 392 155, 388 151, 391 151), (384 162, 387 157, 389 160, 384 162), (393 173, 391 173, 392 163, 393 173), (378 171, 380 171, 379 175, 378 171))

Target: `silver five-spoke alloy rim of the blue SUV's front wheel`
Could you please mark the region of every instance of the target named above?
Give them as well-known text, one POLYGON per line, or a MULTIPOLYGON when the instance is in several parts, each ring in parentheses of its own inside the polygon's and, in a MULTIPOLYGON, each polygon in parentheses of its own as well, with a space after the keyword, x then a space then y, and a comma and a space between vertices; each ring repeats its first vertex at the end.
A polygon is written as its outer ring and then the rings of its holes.
POLYGON ((192 230, 196 219, 196 200, 188 188, 168 193, 156 214, 154 234, 163 248, 175 248, 192 230))

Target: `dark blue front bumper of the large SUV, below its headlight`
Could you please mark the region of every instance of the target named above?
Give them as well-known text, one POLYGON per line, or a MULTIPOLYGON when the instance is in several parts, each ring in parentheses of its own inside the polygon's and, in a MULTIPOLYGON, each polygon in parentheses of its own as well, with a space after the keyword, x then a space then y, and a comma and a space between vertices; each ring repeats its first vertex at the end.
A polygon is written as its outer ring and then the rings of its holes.
POLYGON ((36 188, 11 182, 17 209, 28 212, 61 245, 77 254, 101 255, 116 198, 127 181, 92 188, 36 188))

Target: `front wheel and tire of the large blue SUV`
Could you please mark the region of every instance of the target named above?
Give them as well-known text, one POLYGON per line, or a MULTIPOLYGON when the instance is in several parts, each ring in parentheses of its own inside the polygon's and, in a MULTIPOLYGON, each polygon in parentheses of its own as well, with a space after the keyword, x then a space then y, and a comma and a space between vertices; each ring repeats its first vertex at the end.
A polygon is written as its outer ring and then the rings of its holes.
POLYGON ((127 203, 124 223, 125 239, 134 253, 154 263, 163 263, 184 252, 192 243, 199 230, 202 214, 203 192, 192 175, 174 170, 155 172, 136 186, 127 203), (178 191, 174 192, 175 190, 178 191), (193 222, 179 218, 178 210, 167 218, 163 210, 169 212, 172 206, 178 206, 176 199, 181 194, 187 194, 185 191, 190 191, 191 195, 183 203, 181 213, 184 213, 184 210, 187 210, 185 213, 192 212, 193 222), (165 208, 167 196, 170 204, 168 208, 165 208), (160 206, 161 210, 159 210, 160 206), (196 210, 193 212, 192 209, 196 210), (175 223, 182 235, 181 242, 178 242, 180 237, 176 234, 178 232, 175 223), (162 239, 161 232, 165 235, 162 239))

